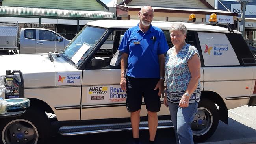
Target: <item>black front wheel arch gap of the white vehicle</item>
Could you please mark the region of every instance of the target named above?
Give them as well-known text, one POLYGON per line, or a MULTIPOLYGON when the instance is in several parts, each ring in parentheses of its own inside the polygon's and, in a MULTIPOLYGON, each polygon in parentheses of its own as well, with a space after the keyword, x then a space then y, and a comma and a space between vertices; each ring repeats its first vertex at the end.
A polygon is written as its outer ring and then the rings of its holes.
POLYGON ((54 113, 50 105, 46 102, 39 100, 37 98, 28 98, 30 100, 30 107, 37 107, 38 109, 45 111, 47 113, 54 113))

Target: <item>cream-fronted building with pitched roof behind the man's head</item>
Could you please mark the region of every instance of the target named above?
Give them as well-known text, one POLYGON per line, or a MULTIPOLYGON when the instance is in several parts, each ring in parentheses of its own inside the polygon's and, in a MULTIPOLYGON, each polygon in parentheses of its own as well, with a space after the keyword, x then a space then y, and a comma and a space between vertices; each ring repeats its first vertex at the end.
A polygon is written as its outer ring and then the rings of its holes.
POLYGON ((234 24, 237 13, 216 10, 214 0, 117 0, 117 19, 138 20, 138 11, 142 6, 154 8, 154 20, 187 22, 189 15, 196 15, 196 22, 208 22, 212 13, 225 17, 226 22, 234 24))

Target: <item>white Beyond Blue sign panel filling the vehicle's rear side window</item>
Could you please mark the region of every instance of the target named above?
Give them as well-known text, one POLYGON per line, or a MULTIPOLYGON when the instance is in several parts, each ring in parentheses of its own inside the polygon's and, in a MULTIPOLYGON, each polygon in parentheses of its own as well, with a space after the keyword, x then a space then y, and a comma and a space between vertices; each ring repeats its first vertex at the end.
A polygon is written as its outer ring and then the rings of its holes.
POLYGON ((225 33, 198 32, 205 66, 238 66, 236 53, 225 33))

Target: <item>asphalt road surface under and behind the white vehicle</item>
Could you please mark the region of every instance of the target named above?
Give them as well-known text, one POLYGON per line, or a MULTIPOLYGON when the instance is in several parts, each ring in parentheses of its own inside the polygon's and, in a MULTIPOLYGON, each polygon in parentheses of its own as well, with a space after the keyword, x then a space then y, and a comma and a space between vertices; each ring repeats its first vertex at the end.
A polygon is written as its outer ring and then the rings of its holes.
MULTIPOLYGON (((246 144, 256 143, 256 106, 238 107, 228 110, 228 125, 219 122, 213 136, 204 144, 246 144)), ((140 131, 141 144, 148 143, 148 130, 140 131)), ((80 136, 52 138, 49 144, 130 144, 132 131, 98 133, 80 136)), ((156 144, 175 144, 174 129, 158 129, 156 144)))

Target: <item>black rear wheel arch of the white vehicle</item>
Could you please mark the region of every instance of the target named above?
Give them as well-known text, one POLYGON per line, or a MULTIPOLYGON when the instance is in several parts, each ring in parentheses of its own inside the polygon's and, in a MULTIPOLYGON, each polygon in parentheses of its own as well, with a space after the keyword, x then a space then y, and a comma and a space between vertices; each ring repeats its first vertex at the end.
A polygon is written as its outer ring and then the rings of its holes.
POLYGON ((221 96, 213 91, 201 91, 201 99, 202 98, 206 98, 211 100, 213 103, 216 103, 219 106, 219 120, 228 124, 228 109, 221 96))

